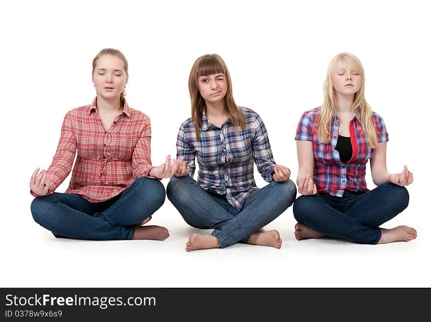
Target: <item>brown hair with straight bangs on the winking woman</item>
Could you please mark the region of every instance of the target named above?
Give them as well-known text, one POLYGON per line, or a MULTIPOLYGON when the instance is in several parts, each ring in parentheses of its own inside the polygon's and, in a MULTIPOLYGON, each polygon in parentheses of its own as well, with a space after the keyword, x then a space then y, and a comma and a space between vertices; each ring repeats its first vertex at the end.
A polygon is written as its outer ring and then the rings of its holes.
POLYGON ((245 128, 244 115, 235 104, 232 94, 232 80, 223 59, 217 54, 206 54, 200 56, 194 62, 189 75, 189 92, 192 100, 192 122, 195 127, 196 138, 199 139, 199 129, 201 126, 202 114, 205 110, 205 100, 199 93, 197 82, 200 76, 222 73, 226 75, 227 91, 225 96, 226 108, 231 115, 231 120, 234 125, 239 124, 241 129, 245 128))

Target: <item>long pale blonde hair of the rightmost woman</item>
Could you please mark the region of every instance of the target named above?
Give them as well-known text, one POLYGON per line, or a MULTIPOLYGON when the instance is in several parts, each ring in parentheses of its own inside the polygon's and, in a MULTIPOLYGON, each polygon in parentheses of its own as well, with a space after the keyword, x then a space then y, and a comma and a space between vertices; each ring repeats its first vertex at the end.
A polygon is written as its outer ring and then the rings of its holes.
POLYGON ((325 82, 323 83, 323 104, 320 108, 319 122, 317 128, 317 137, 320 142, 329 143, 330 127, 332 118, 336 114, 335 105, 335 91, 332 82, 332 76, 335 72, 335 65, 338 60, 344 60, 351 64, 358 74, 362 77, 362 83, 355 93, 353 98, 353 112, 355 113, 359 123, 361 124, 362 131, 368 139, 368 144, 371 148, 377 147, 377 135, 376 128, 373 123, 373 111, 370 105, 365 100, 365 74, 360 63, 360 60, 355 55, 349 52, 342 52, 331 60, 328 66, 328 72, 326 74, 325 82))

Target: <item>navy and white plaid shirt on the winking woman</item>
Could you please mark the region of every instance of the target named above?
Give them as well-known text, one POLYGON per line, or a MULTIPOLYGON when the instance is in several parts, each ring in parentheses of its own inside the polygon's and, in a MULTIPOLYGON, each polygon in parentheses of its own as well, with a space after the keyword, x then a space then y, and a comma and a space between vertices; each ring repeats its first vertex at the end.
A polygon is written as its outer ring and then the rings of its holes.
POLYGON ((251 109, 239 107, 245 118, 245 129, 227 120, 221 127, 211 124, 202 115, 199 140, 192 119, 180 126, 177 137, 177 158, 184 157, 193 177, 196 157, 199 165, 199 186, 219 195, 240 210, 250 192, 257 189, 253 162, 267 182, 271 182, 275 166, 268 134, 261 117, 251 109), (237 129, 236 129, 237 127, 237 129))

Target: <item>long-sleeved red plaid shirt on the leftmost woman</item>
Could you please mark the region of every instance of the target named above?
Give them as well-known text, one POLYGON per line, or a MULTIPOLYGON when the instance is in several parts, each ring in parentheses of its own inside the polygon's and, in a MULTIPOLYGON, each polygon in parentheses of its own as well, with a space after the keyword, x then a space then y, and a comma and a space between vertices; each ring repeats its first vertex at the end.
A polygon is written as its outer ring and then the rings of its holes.
MULTIPOLYGON (((78 156, 66 193, 78 194, 90 202, 113 198, 153 168, 150 158, 151 125, 148 116, 124 108, 109 129, 90 105, 69 111, 61 127, 60 141, 47 170, 52 193, 69 175, 76 150, 78 156)), ((35 197, 36 194, 31 192, 35 197)))

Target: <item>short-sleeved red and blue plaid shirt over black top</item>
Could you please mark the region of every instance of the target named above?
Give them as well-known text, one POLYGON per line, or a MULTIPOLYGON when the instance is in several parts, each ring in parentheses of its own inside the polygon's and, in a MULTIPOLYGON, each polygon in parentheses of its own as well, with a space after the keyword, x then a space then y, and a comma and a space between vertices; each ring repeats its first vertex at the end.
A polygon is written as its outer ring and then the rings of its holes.
MULTIPOLYGON (((352 142, 352 158, 343 163, 335 146, 338 140, 339 118, 334 117, 331 123, 330 143, 317 140, 317 122, 320 107, 305 112, 296 129, 295 140, 313 143, 314 169, 313 181, 317 191, 332 196, 342 197, 344 191, 368 191, 365 182, 365 169, 368 159, 373 156, 374 149, 368 146, 368 140, 362 132, 359 120, 354 117, 350 121, 350 138, 352 142)), ((377 141, 388 141, 386 127, 382 117, 373 112, 373 123, 376 128, 377 141)))

